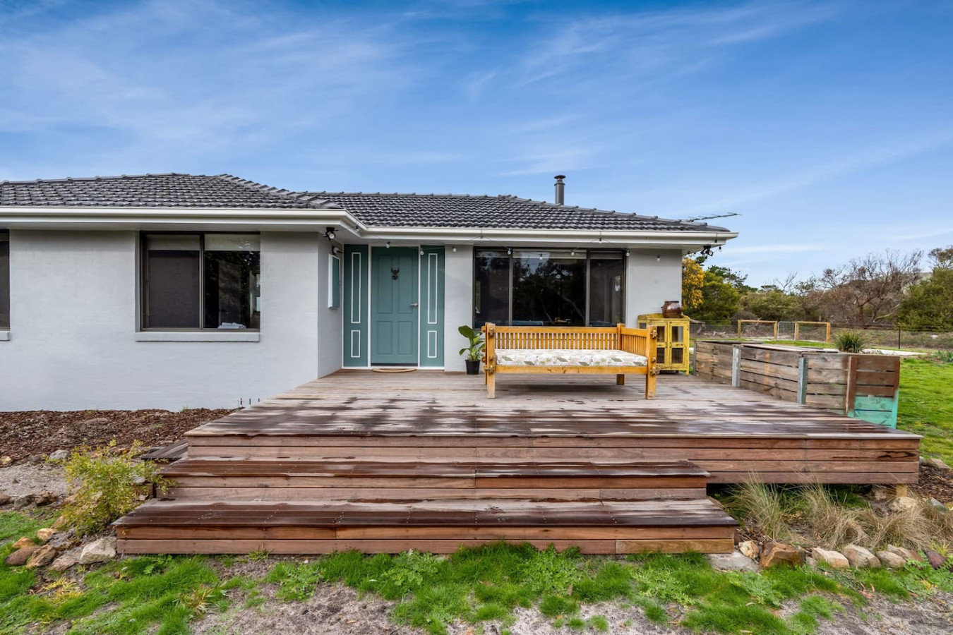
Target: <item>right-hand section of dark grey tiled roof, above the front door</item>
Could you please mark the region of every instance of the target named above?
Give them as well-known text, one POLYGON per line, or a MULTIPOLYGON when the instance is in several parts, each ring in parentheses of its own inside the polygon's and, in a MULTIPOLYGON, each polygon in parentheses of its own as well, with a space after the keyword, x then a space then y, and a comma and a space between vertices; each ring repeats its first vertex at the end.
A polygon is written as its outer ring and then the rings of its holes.
POLYGON ((308 192, 371 227, 727 231, 703 223, 534 201, 517 196, 308 192))

